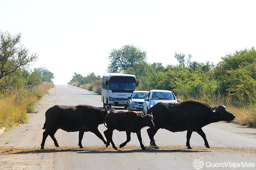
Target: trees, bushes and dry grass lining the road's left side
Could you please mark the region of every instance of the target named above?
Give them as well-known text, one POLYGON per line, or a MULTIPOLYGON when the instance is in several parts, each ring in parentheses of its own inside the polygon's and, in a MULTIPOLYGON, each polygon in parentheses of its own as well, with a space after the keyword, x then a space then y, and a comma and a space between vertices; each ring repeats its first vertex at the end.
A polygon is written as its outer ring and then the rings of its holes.
POLYGON ((0 129, 25 123, 35 113, 36 102, 53 86, 53 73, 46 68, 28 70, 37 55, 29 55, 21 34, 0 30, 0 129))

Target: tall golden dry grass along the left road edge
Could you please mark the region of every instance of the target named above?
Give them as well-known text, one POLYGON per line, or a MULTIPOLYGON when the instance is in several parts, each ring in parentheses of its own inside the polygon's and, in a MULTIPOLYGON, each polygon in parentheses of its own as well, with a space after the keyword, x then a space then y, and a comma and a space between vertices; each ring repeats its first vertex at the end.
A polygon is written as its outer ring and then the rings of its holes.
POLYGON ((0 128, 8 129, 19 123, 25 123, 28 119, 27 113, 35 112, 36 102, 52 86, 52 83, 44 82, 38 86, 36 91, 24 91, 19 98, 14 93, 0 98, 0 128))

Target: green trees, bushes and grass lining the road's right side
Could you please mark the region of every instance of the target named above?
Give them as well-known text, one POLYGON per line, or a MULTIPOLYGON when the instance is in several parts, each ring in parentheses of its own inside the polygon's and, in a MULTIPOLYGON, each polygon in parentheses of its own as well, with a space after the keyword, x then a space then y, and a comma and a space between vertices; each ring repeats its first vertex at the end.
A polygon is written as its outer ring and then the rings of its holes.
MULTIPOLYGON (((254 47, 225 55, 216 65, 191 61, 193 56, 190 54, 175 53, 179 64, 163 66, 162 63, 147 63, 146 54, 133 45, 114 49, 108 56, 108 72, 134 74, 140 83, 137 90, 171 90, 180 100, 200 100, 211 106, 225 105, 236 115, 236 122, 256 127, 254 47)), ((94 73, 87 77, 75 73, 70 83, 92 90, 97 81, 97 89, 101 91, 102 78, 99 76, 95 81, 82 81, 92 75, 96 77, 94 73)))

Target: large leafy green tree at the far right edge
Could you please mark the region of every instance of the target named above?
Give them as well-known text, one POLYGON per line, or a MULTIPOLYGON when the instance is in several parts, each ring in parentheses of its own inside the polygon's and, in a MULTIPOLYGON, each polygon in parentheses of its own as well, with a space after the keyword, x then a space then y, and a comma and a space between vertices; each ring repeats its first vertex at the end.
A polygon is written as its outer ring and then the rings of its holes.
POLYGON ((256 51, 254 47, 250 50, 235 51, 234 54, 226 55, 221 59, 222 61, 217 64, 213 73, 218 82, 219 90, 223 94, 227 92, 238 93, 234 90, 241 88, 234 87, 241 85, 243 82, 241 80, 247 76, 256 80, 256 51))

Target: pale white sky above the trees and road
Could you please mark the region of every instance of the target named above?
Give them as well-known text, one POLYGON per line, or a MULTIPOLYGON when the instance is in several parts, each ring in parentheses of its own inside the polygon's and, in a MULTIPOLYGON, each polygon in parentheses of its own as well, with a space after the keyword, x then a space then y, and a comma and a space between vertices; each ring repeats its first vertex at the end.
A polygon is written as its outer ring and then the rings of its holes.
POLYGON ((178 64, 256 47, 255 0, 0 0, 0 30, 22 33, 22 44, 55 78, 106 73, 109 53, 127 44, 148 52, 148 63, 178 64))

